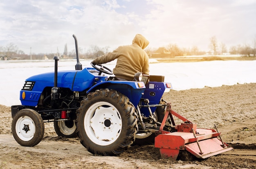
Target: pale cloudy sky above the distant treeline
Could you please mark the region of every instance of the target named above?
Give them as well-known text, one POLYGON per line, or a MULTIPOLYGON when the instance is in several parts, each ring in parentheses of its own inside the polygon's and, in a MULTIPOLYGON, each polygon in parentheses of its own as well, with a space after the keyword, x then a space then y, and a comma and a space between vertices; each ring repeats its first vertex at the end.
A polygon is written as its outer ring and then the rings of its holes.
POLYGON ((26 54, 74 50, 73 34, 92 46, 131 44, 137 33, 149 49, 177 44, 209 50, 210 38, 227 48, 256 38, 256 0, 1 0, 0 47, 26 54))

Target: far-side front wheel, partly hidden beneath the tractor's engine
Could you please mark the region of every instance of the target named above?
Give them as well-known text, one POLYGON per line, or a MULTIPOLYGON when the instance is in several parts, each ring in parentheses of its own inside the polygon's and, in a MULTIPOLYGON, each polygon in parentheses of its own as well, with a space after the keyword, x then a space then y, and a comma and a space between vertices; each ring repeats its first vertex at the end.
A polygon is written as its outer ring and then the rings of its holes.
POLYGON ((58 136, 76 138, 75 120, 54 121, 54 129, 58 136))

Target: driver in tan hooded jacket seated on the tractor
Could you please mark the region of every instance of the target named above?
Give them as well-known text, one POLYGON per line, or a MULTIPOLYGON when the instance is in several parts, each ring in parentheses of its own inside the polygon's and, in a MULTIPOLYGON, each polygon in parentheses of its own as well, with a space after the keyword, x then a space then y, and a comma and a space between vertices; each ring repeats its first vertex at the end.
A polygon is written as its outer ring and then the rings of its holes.
POLYGON ((135 73, 142 72, 149 75, 149 58, 143 50, 148 44, 149 42, 144 36, 137 34, 132 40, 132 44, 119 46, 114 51, 94 59, 91 63, 103 64, 117 59, 117 64, 113 69, 115 78, 132 81, 135 73))

